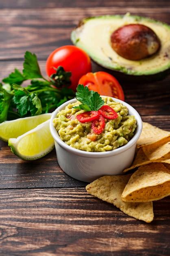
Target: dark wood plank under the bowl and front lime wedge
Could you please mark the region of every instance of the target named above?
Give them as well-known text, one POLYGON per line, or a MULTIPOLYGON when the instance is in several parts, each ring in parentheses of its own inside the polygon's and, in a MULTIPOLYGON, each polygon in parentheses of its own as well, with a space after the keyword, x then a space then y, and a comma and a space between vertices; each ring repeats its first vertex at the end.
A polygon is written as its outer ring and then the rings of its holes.
MULTIPOLYGON (((144 116, 142 119, 170 130, 170 116, 144 116)), ((84 187, 85 184, 61 170, 55 150, 30 162, 15 156, 7 143, 0 141, 0 189, 84 187)))

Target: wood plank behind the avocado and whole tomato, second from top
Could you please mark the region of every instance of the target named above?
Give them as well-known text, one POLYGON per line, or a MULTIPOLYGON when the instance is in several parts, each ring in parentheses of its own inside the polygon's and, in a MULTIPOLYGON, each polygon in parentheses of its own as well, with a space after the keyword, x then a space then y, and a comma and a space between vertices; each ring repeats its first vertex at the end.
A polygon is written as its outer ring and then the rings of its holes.
POLYGON ((46 59, 55 48, 71 43, 70 33, 82 18, 126 12, 164 22, 169 22, 170 16, 170 8, 154 7, 154 4, 152 8, 143 6, 139 9, 133 7, 133 4, 131 7, 124 4, 121 7, 113 5, 109 8, 39 8, 22 9, 22 11, 20 9, 10 9, 10 11, 1 9, 0 59, 23 58, 26 50, 36 52, 39 57, 46 59))

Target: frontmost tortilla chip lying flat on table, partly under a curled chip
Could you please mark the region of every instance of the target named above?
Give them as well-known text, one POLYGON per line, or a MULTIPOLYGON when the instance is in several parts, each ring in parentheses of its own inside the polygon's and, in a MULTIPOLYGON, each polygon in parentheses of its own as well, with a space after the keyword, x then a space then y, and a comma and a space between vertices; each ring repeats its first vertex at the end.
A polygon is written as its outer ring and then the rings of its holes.
POLYGON ((127 215, 145 222, 153 220, 153 204, 148 203, 127 203, 121 199, 122 192, 130 175, 103 176, 86 186, 89 194, 114 204, 127 215))

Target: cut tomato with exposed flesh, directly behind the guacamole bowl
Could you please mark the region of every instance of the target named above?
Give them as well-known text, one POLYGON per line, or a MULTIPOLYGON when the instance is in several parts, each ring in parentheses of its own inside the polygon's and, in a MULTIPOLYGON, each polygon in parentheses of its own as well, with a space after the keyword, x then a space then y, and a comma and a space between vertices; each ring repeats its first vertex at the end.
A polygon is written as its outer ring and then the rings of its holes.
POLYGON ((87 86, 89 90, 98 92, 100 95, 115 97, 124 101, 124 92, 120 83, 107 72, 89 72, 82 76, 78 83, 87 86))

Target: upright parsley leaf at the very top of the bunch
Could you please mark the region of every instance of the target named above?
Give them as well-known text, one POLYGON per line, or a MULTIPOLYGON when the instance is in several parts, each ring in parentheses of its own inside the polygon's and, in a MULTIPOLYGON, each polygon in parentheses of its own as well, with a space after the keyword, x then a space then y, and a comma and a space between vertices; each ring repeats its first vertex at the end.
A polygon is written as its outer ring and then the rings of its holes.
POLYGON ((34 53, 26 52, 24 55, 24 69, 23 74, 26 79, 35 79, 35 78, 43 78, 38 61, 37 56, 34 53))

